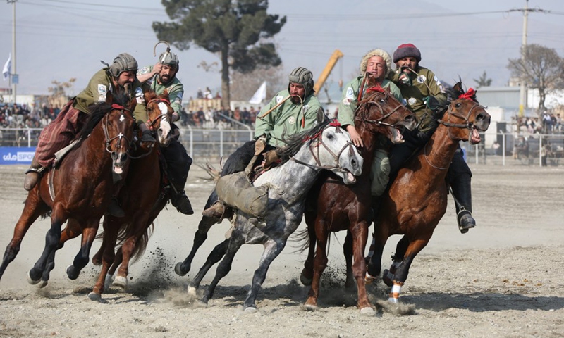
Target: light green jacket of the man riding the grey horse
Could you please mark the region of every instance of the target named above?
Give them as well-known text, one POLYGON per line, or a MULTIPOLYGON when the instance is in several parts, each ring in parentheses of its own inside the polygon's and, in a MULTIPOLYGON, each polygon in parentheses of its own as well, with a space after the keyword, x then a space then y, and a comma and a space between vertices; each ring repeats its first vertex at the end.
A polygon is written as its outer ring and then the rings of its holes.
POLYGON ((317 124, 317 111, 323 108, 317 99, 317 96, 309 95, 302 104, 293 104, 291 99, 286 100, 281 106, 271 111, 264 118, 264 113, 276 106, 278 102, 289 96, 288 89, 279 92, 274 98, 266 104, 257 115, 255 123, 255 139, 266 135, 266 142, 271 146, 285 146, 282 141, 282 135, 290 136, 309 130, 317 124), (302 118, 305 118, 305 125, 302 127, 302 118))

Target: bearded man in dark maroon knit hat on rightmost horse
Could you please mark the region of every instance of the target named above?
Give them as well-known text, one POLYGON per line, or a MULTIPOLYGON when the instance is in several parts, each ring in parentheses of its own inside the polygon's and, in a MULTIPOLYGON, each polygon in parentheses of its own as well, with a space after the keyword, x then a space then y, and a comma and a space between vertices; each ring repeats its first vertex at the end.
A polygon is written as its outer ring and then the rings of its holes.
MULTIPOLYGON (((419 120, 415 130, 405 132, 405 142, 392 147, 390 167, 391 176, 394 177, 407 158, 429 141, 439 126, 438 120, 447 104, 443 84, 431 70, 419 65, 420 62, 421 51, 413 44, 400 44, 393 52, 393 63, 396 63, 393 82, 398 84, 402 96, 407 100, 407 108, 419 120)), ((472 172, 462 155, 462 149, 458 146, 448 168, 447 180, 457 202, 458 229, 465 234, 476 226, 476 221, 472 217, 472 172)))

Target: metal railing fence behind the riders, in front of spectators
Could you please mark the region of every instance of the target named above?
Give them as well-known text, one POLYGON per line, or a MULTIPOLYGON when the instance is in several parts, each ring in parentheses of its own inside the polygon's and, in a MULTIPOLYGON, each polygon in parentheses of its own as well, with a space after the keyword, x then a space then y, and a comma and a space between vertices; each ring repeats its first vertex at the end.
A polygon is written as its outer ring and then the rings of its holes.
MULTIPOLYGON (((0 146, 37 146, 41 129, 0 128, 0 146)), ((215 161, 233 153, 241 144, 254 137, 250 129, 195 129, 180 128, 180 141, 188 154, 197 161, 215 161)), ((491 141, 491 140, 489 140, 491 141)), ((461 143, 468 163, 494 165, 564 165, 563 134, 482 134, 479 144, 461 143), (499 144, 494 149, 486 137, 495 135, 499 144), (528 151, 516 151, 520 136, 527 138, 528 151), (490 144, 486 146, 485 144, 490 144), (519 154, 517 154, 519 153, 519 154)))

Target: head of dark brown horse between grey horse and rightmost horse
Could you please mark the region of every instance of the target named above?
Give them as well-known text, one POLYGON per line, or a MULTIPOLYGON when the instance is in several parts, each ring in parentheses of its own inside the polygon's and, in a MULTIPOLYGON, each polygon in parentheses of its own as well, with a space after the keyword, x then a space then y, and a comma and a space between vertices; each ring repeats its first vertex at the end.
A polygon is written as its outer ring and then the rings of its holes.
POLYGON ((415 128, 415 114, 400 103, 389 91, 381 87, 370 87, 367 96, 360 101, 355 120, 366 123, 367 128, 384 134, 392 143, 403 143, 402 128, 415 128))

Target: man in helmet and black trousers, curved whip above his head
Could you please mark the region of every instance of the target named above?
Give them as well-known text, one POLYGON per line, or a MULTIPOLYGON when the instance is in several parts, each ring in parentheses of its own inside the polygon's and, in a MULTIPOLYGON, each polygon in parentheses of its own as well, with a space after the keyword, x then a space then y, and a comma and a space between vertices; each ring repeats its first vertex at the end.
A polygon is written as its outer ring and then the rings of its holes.
MULTIPOLYGON (((157 95, 163 94, 164 90, 168 92, 168 99, 171 101, 171 107, 174 110, 172 121, 180 120, 182 111, 182 96, 184 95, 184 86, 176 77, 178 73, 178 56, 166 51, 159 56, 159 62, 153 66, 141 68, 137 73, 137 79, 155 92, 157 95)), ((166 160, 166 171, 169 180, 171 180, 171 203, 180 213, 192 215, 192 204, 190 199, 184 192, 184 186, 188 179, 192 158, 188 156, 188 152, 184 146, 178 142, 180 136, 178 127, 173 124, 175 137, 166 147, 161 147, 161 153, 166 160)))

